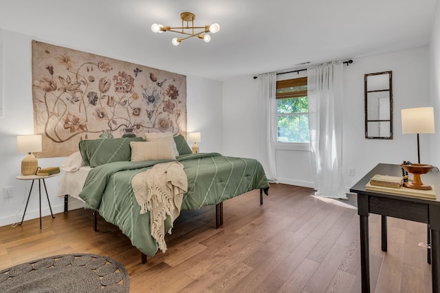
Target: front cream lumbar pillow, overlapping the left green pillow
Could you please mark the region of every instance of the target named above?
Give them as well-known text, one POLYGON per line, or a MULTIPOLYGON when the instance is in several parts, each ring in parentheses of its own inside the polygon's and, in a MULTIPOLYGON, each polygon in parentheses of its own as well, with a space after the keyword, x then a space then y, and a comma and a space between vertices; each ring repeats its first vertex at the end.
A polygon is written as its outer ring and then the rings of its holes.
POLYGON ((170 141, 130 141, 131 161, 175 160, 170 141))

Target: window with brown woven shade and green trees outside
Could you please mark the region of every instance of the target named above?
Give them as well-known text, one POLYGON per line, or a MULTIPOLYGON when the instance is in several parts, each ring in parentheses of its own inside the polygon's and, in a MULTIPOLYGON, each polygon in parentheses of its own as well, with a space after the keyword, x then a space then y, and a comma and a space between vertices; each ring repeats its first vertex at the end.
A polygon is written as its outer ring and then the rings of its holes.
POLYGON ((307 77, 276 82, 279 143, 309 142, 309 104, 307 77))

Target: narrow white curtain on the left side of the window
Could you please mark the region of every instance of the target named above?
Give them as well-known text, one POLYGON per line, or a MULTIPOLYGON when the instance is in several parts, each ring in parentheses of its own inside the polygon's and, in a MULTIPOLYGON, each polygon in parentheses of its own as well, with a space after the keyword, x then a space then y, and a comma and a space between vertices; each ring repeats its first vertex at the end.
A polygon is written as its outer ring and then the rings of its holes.
POLYGON ((267 179, 278 183, 276 176, 275 147, 276 142, 276 73, 258 75, 260 101, 260 141, 261 152, 264 154, 262 164, 267 179))

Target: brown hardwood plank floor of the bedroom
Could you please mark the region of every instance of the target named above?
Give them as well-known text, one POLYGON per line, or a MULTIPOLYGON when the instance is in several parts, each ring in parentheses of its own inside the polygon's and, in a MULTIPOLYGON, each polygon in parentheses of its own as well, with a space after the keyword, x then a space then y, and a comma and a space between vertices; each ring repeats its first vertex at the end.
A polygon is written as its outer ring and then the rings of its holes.
MULTIPOLYGON (((252 191, 214 207, 182 211, 166 253, 140 263, 140 253, 117 227, 78 209, 0 227, 0 270, 63 253, 96 253, 120 261, 131 292, 360 292, 357 210, 313 191, 271 185, 259 204, 252 191)), ((388 218, 388 253, 380 249, 380 216, 370 215, 372 292, 432 292, 426 225, 388 218)))

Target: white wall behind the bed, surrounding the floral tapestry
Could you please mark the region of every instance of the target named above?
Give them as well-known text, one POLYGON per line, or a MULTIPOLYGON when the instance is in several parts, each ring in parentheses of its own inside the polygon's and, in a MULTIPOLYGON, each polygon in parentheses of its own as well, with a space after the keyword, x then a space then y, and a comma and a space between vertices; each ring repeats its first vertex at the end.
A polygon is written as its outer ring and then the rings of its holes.
MULTIPOLYGON (((37 36, 28 36, 8 30, 2 32, 4 45, 3 72, 5 74, 3 76, 3 117, 0 117, 0 226, 21 220, 25 200, 28 198, 30 183, 32 182, 15 179, 15 176, 20 174, 21 160, 24 158, 24 154, 17 154, 16 137, 18 134, 32 134, 34 132, 31 40, 41 40, 46 43, 80 50, 90 45, 89 43, 81 43, 81 41, 75 41, 74 44, 59 44, 56 40, 39 39, 37 36), (9 200, 3 198, 3 187, 7 186, 12 186, 13 197, 9 200)), ((108 51, 108 49, 106 47, 105 51, 108 51)), ((86 50, 83 49, 83 51, 86 50)), ((96 44, 92 53, 99 51, 99 44, 96 44)), ((126 56, 124 60, 130 60, 130 56, 126 56)), ((199 145, 202 152, 221 152, 221 82, 187 76, 186 86, 188 131, 201 132, 202 141, 199 145)), ((56 166, 60 165, 64 159, 39 159, 39 165, 56 166)), ((63 198, 56 197, 60 178, 61 176, 58 176, 46 180, 47 191, 54 213, 63 211, 63 198)), ((81 205, 79 202, 75 203, 72 200, 69 207, 77 208, 81 205)), ((50 210, 45 198, 42 198, 41 206, 43 215, 49 215, 50 210)), ((38 217, 38 185, 35 183, 25 220, 38 217)))

